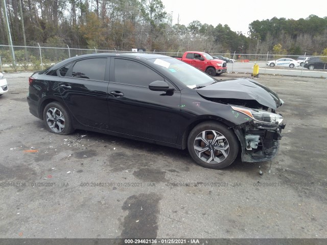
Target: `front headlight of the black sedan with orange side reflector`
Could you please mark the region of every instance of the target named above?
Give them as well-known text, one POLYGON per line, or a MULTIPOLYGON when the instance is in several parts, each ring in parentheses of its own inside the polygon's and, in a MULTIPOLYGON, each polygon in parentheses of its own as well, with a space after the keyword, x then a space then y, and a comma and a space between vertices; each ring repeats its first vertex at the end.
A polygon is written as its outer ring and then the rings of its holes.
POLYGON ((268 124, 281 124, 283 116, 264 110, 250 109, 244 107, 231 106, 235 111, 241 112, 255 121, 268 122, 268 124))

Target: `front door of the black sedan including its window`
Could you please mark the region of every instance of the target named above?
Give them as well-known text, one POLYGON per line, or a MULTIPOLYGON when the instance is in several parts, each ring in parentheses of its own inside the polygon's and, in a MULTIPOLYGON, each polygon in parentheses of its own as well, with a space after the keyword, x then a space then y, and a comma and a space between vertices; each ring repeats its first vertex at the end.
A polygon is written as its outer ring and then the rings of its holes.
POLYGON ((151 67, 136 60, 115 57, 110 71, 110 130, 176 143, 180 121, 180 91, 151 67), (150 90, 149 84, 158 80, 166 81, 175 91, 150 90))

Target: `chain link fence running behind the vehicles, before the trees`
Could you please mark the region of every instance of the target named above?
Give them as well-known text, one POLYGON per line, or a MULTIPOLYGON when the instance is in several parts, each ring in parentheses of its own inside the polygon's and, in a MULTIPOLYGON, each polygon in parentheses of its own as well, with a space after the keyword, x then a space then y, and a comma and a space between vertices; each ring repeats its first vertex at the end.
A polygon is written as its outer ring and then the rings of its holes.
MULTIPOLYGON (((42 70, 51 65, 58 63, 62 60, 65 60, 70 57, 79 56, 79 55, 86 55, 86 54, 94 54, 94 53, 130 53, 131 51, 116 51, 116 50, 105 50, 105 49, 97 49, 94 47, 93 49, 90 48, 76 48, 76 47, 49 47, 43 46, 46 44, 39 44, 37 46, 10 46, 10 45, 0 45, 0 65, 1 71, 36 71, 42 70)), ((168 55, 168 56, 182 56, 183 52, 176 52, 176 53, 169 53, 169 52, 151 52, 161 55, 168 55)), ((231 58, 237 61, 237 63, 260 63, 261 68, 265 68, 265 73, 267 68, 279 68, 277 65, 276 60, 282 58, 291 58, 294 60, 302 59, 303 63, 305 63, 306 59, 315 58, 322 61, 325 64, 323 67, 315 67, 321 72, 321 77, 327 77, 327 57, 325 56, 308 56, 305 54, 303 55, 274 55, 270 54, 241 54, 241 53, 231 53, 231 54, 212 54, 212 55, 221 55, 227 58, 231 58), (270 65, 267 66, 267 63, 271 63, 270 61, 274 61, 276 67, 271 67, 270 65)), ((274 65, 274 66, 275 66, 274 65)), ((303 64, 302 64, 303 65, 303 64)), ((282 68, 288 68, 287 66, 282 68)), ((298 67, 297 67, 298 68, 298 67)), ((300 67, 302 70, 308 70, 308 67, 303 68, 300 67)), ((251 73, 253 66, 248 65, 247 68, 243 70, 245 73, 251 73)), ((229 70, 231 72, 237 71, 229 70)), ((274 71, 274 73, 276 73, 274 71)), ((277 72, 278 74, 278 72, 277 72)), ((282 74, 285 75, 285 74, 282 74)), ((289 75, 294 75, 294 72, 290 72, 289 75)), ((295 75, 297 76, 297 75, 295 75)), ((300 74, 302 76, 302 72, 300 74)), ((310 75, 309 75, 310 76, 310 75)))

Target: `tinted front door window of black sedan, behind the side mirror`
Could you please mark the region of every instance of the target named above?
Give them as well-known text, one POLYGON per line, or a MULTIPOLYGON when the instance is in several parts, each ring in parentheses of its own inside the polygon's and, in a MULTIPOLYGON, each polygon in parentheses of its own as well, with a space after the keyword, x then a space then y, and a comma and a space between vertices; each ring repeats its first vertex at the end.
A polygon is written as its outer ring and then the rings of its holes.
POLYGON ((114 81, 128 85, 148 87, 154 81, 165 81, 149 67, 132 60, 115 59, 114 81))

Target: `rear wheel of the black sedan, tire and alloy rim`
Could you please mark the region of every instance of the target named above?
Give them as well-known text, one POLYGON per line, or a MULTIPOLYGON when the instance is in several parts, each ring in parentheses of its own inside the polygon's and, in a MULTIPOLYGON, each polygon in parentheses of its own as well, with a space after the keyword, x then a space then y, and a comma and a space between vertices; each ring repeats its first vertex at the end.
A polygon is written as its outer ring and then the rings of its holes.
POLYGON ((67 135, 74 132, 71 116, 58 102, 51 102, 44 107, 43 121, 46 129, 52 133, 67 135))

